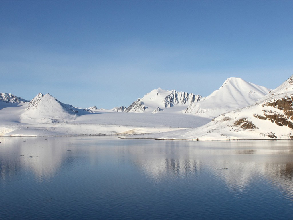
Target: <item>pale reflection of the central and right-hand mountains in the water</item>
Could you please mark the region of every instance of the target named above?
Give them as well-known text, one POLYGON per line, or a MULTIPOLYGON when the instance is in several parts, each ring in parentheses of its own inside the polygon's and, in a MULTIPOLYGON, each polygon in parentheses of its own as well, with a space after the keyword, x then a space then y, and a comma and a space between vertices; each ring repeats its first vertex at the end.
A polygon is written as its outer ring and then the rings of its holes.
POLYGON ((209 172, 231 192, 245 190, 256 179, 272 182, 293 199, 292 141, 165 142, 129 149, 134 163, 153 181, 186 178, 209 172), (164 149, 164 153, 162 152, 164 149), (240 148, 240 149, 239 149, 240 148), (247 148, 247 149, 243 149, 247 148), (251 149, 255 148, 255 149, 251 149), (146 159, 147 158, 147 159, 146 159), (221 168, 228 169, 221 169, 221 168))

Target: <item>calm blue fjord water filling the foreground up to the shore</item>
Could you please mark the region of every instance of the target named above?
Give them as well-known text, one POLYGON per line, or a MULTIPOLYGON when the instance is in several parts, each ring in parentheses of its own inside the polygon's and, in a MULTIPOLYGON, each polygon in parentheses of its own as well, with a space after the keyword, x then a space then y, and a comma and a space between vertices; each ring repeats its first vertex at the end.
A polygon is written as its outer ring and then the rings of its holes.
POLYGON ((0 142, 0 219, 293 218, 289 140, 0 142))

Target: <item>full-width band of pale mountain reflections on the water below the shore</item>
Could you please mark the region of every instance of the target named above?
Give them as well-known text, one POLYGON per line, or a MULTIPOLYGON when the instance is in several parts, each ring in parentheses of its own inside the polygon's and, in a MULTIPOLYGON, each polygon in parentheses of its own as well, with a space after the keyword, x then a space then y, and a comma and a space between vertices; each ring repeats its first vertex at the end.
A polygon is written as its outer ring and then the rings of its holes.
POLYGON ((231 190, 244 191, 262 178, 293 199, 292 141, 155 141, 113 138, 1 138, 0 177, 13 181, 31 172, 38 181, 59 170, 89 164, 107 170, 130 163, 151 181, 209 173, 231 190), (217 168, 227 167, 227 170, 217 168))

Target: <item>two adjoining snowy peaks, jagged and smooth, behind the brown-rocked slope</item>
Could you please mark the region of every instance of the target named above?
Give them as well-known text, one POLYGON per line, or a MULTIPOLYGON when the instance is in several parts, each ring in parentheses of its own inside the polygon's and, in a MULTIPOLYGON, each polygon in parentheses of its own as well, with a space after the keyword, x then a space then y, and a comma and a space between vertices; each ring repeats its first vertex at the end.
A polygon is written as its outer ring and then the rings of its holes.
POLYGON ((270 91, 266 87, 231 77, 208 97, 158 88, 137 99, 129 107, 115 107, 112 110, 158 113, 180 106, 183 113, 214 118, 227 111, 251 105, 270 91))

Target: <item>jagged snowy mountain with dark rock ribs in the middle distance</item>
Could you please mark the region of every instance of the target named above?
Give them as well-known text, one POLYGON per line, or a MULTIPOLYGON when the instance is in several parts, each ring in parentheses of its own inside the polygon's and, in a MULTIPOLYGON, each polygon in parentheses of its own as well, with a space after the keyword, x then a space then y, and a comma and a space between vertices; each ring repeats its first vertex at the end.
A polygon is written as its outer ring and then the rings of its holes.
POLYGON ((200 101, 201 98, 200 95, 194 95, 192 93, 189 94, 187 92, 177 92, 176 90, 169 91, 158 88, 147 93, 144 97, 137 99, 126 109, 125 107, 116 107, 113 110, 136 113, 157 113, 174 106, 183 106, 186 108, 189 104, 200 101))

